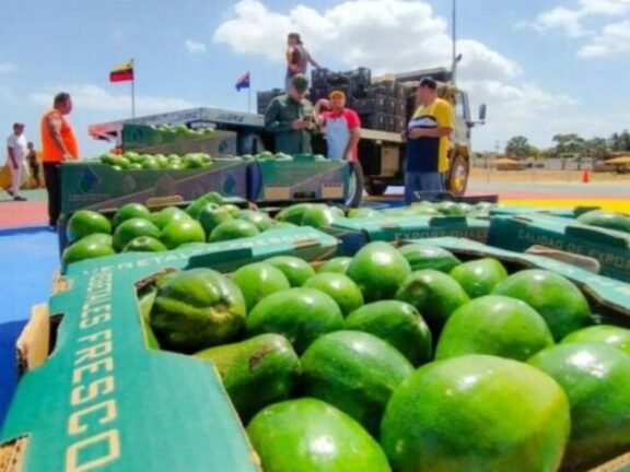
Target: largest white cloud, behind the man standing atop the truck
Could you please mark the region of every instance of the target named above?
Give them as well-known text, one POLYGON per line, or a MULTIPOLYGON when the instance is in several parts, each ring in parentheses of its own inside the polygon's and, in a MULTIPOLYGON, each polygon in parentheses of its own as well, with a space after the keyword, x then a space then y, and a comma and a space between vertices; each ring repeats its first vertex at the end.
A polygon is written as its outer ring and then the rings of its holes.
MULTIPOLYGON (((421 1, 351 0, 323 12, 296 5, 283 14, 258 0, 242 0, 234 5, 234 16, 217 28, 213 40, 238 54, 282 61, 291 31, 301 33, 324 66, 328 51, 350 68, 364 66, 376 74, 451 66, 447 24, 421 1)), ((458 48, 462 75, 510 78, 520 71, 481 43, 462 40, 458 48)))

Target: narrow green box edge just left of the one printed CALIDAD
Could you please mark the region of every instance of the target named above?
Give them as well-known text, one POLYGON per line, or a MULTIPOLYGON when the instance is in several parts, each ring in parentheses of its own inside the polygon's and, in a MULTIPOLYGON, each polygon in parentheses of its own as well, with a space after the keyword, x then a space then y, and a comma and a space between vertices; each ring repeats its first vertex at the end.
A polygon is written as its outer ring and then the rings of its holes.
POLYGON ((375 240, 453 236, 486 243, 489 227, 487 220, 466 216, 408 216, 340 219, 324 231, 341 241, 346 256, 353 256, 362 246, 375 240))

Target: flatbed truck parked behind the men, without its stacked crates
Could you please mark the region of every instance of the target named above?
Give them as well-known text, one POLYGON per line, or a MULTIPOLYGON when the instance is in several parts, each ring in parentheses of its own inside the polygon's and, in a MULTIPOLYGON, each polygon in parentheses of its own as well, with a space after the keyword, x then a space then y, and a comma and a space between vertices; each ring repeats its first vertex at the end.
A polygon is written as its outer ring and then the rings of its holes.
MULTIPOLYGON (((407 99, 412 99, 418 83, 425 76, 439 81, 439 94, 451 101, 454 106, 455 129, 451 137, 450 168, 445 182, 448 192, 462 197, 466 191, 472 155, 471 130, 485 122, 486 105, 480 105, 478 119, 474 120, 468 95, 452 84, 452 73, 443 68, 390 74, 374 79, 374 82, 380 80, 399 82, 405 87, 407 99)), ((124 149, 122 130, 126 125, 185 125, 194 129, 211 127, 236 133, 237 154, 273 151, 273 135, 265 130, 262 115, 209 107, 96 123, 89 127, 89 134, 94 139, 114 142, 116 148, 124 149)), ((316 153, 325 154, 325 135, 314 137, 313 146, 316 153)), ((358 206, 363 191, 370 196, 382 196, 388 187, 404 185, 405 142, 400 133, 363 128, 359 142, 359 163, 360 165, 351 166, 347 206, 358 206)))

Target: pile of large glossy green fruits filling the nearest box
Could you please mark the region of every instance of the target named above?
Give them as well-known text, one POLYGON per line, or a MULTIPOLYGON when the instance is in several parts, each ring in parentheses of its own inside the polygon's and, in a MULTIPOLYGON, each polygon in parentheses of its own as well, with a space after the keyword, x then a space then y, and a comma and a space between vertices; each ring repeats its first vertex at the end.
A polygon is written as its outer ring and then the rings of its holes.
POLYGON ((550 271, 377 241, 139 298, 153 347, 215 367, 264 471, 551 472, 630 448, 630 330, 550 271))

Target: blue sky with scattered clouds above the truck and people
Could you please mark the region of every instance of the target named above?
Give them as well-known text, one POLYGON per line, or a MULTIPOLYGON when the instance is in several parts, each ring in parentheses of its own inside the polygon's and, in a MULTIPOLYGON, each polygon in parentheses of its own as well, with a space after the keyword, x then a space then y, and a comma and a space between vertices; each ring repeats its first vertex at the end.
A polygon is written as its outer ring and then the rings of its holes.
MULTIPOLYGON (((85 157, 107 146, 90 123, 130 116, 129 83, 109 71, 136 59, 137 114, 195 106, 247 109, 238 75, 280 86, 288 31, 324 66, 407 71, 447 66, 448 0, 209 1, 3 0, 0 2, 0 131, 15 120, 38 144, 52 96, 70 116, 85 157)), ((609 137, 630 128, 630 0, 457 0, 459 85, 488 123, 475 148, 515 134, 538 146, 560 132, 609 137)), ((253 103, 255 108, 255 103, 253 103)))

